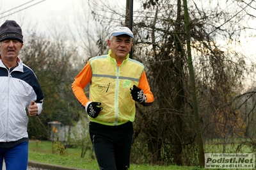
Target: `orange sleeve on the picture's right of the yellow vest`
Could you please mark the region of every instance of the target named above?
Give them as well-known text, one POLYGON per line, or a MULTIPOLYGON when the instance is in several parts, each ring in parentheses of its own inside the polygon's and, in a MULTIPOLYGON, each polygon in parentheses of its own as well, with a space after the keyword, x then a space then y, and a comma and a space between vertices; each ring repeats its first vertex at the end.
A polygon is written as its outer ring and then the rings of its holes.
POLYGON ((143 93, 147 97, 147 103, 154 102, 154 95, 150 91, 150 87, 148 85, 148 79, 147 79, 145 71, 143 71, 143 73, 140 77, 140 82, 139 82, 138 88, 141 88, 143 90, 143 93))

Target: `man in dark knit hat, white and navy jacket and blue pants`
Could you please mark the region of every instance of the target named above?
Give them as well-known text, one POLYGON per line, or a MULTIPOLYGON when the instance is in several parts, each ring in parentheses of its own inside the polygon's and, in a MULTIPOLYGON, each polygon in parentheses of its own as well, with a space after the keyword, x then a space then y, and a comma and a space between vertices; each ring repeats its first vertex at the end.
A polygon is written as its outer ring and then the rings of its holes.
POLYGON ((28 116, 42 112, 44 95, 35 73, 18 58, 22 29, 14 20, 0 27, 0 169, 28 167, 28 116))

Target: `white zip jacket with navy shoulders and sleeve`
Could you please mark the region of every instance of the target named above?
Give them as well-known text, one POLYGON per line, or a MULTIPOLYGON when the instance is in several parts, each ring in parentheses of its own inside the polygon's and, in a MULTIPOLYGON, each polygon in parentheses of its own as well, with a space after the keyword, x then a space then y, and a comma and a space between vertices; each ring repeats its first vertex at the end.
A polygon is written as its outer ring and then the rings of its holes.
POLYGON ((34 100, 42 112, 44 95, 35 73, 18 58, 10 71, 0 59, 0 142, 28 137, 26 107, 34 100))

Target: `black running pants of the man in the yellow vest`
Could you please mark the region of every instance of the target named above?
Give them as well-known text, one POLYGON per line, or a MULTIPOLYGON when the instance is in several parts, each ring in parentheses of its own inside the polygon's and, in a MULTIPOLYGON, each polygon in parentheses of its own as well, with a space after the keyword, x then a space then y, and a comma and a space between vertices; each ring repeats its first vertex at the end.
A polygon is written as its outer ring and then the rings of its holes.
POLYGON ((133 127, 90 122, 89 132, 100 170, 127 170, 130 166, 133 127))

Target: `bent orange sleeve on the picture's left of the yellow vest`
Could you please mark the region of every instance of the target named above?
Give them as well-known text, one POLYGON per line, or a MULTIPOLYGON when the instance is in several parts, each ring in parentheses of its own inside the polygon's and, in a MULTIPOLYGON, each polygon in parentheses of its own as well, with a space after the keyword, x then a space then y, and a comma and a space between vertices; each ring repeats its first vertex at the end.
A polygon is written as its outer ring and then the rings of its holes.
POLYGON ((89 102, 88 98, 84 93, 84 88, 91 82, 92 79, 92 68, 90 63, 87 62, 83 70, 75 77, 75 81, 72 83, 72 91, 76 96, 77 100, 81 105, 85 107, 86 103, 89 102))

